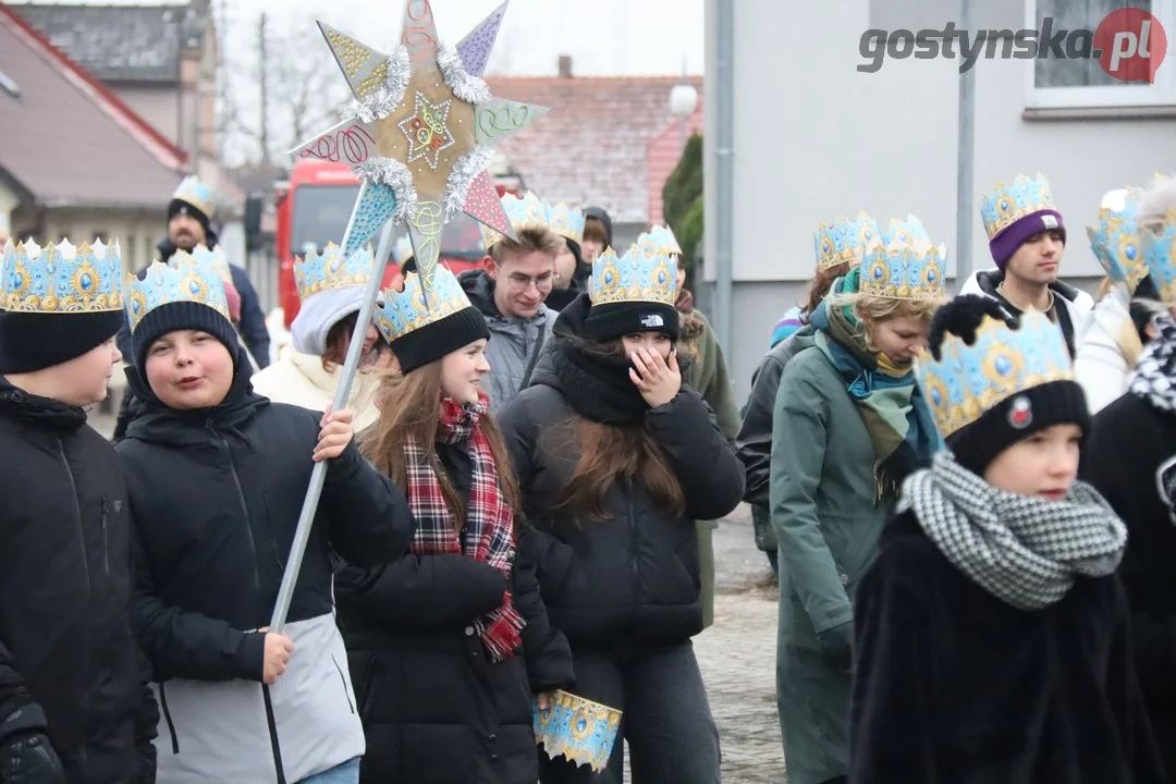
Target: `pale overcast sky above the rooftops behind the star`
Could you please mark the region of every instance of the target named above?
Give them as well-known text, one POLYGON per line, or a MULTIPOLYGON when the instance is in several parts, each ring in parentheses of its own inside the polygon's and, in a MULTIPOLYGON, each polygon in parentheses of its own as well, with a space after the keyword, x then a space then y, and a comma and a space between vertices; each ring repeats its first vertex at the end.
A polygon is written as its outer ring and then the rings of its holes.
MULTIPOLYGON (((40 0, 38 0, 40 1, 40 0)), ((152 0, 72 0, 89 5, 140 5, 152 0)), ((167 2, 167 0, 155 0, 167 2)), ((501 0, 433 0, 437 33, 456 43, 466 33, 494 11, 501 0)), ((321 87, 325 102, 347 96, 346 81, 329 55, 329 48, 316 20, 348 33, 360 41, 385 48, 400 36, 403 0, 212 0, 222 36, 222 59, 228 79, 222 88, 229 92, 238 120, 226 138, 226 162, 236 165, 256 160, 259 146, 255 129, 260 127, 259 19, 268 14, 267 39, 270 53, 301 52, 302 69, 307 65, 325 74, 321 87), (280 8, 280 11, 278 11, 280 8), (382 11, 381 11, 382 9, 382 11), (340 93, 332 91, 339 89, 340 93), (329 93, 329 96, 328 96, 329 93), (240 128, 248 127, 247 133, 240 128)), ((183 5, 182 0, 176 5, 183 5)), ((552 75, 559 55, 573 59, 575 75, 657 75, 703 71, 704 0, 510 0, 502 29, 490 58, 488 73, 509 75, 552 75)), ((282 80, 281 58, 269 58, 270 83, 282 80)), ((292 72, 295 71, 292 68, 292 72)), ((302 83, 300 76, 286 82, 302 83)), ((278 88, 281 89, 281 88, 278 88)), ((270 148, 280 155, 301 141, 290 130, 288 100, 270 93, 270 148)), ((227 113, 222 113, 227 116, 227 113)), ((333 119, 333 115, 332 115, 333 119)), ((330 122, 315 121, 315 127, 330 122)))

